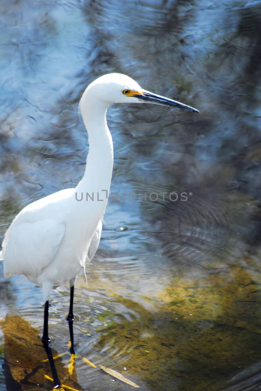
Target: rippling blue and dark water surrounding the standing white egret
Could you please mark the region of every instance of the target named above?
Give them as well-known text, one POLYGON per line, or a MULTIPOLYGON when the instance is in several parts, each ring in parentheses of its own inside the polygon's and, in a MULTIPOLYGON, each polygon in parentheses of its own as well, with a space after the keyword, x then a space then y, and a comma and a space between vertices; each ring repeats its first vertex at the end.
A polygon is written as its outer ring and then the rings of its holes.
MULTIPOLYGON (((112 192, 188 201, 109 201, 89 289, 76 284, 78 352, 142 390, 261 389, 261 1, 2 1, 0 14, 2 237, 25 205, 81 179, 78 101, 96 77, 124 73, 200 110, 108 110, 112 192)), ((41 332, 40 289, 0 266, 0 317, 41 332)), ((68 295, 50 309, 60 353, 68 295)), ((76 370, 85 389, 130 389, 76 370)))

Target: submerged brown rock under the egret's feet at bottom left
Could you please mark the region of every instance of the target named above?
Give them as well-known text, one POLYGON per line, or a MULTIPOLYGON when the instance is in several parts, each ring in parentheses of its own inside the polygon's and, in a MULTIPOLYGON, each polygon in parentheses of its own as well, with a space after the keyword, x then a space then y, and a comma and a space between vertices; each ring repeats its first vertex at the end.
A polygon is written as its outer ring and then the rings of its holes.
MULTIPOLYGON (((46 353, 39 330, 18 315, 7 315, 0 321, 4 332, 4 373, 8 391, 51 390, 52 383, 44 375, 52 377, 49 362, 44 362, 46 353)), ((57 352, 53 351, 53 356, 57 352)), ((60 381, 66 386, 83 391, 77 383, 76 373, 69 378, 62 360, 55 360, 55 367, 60 381)))

